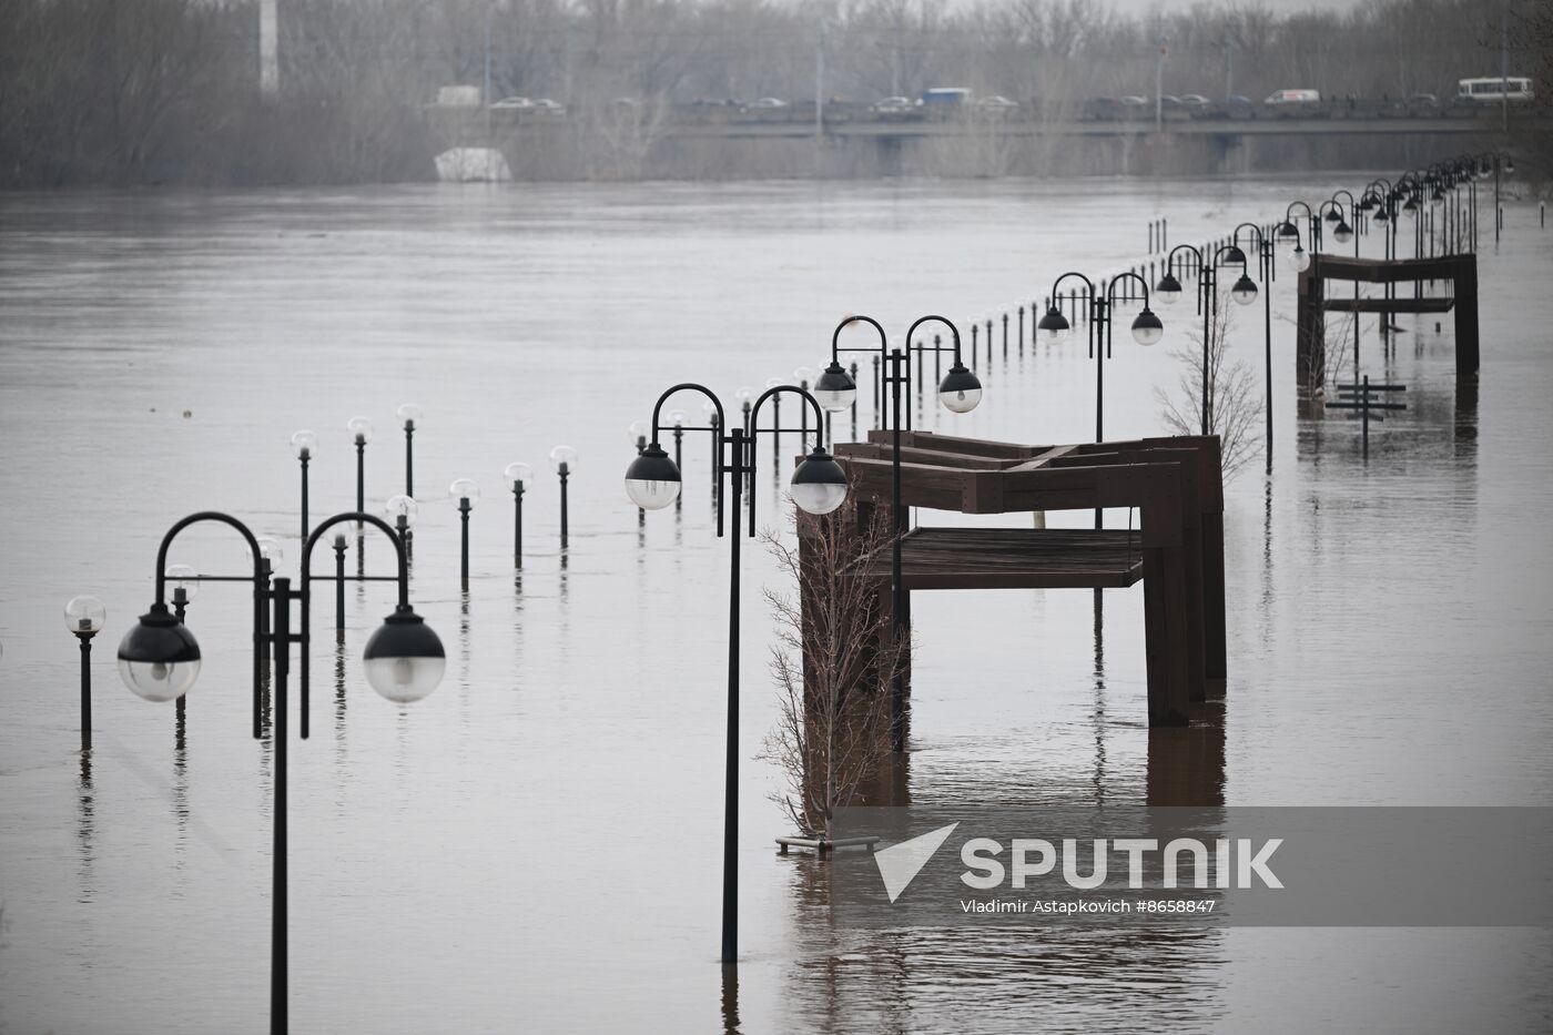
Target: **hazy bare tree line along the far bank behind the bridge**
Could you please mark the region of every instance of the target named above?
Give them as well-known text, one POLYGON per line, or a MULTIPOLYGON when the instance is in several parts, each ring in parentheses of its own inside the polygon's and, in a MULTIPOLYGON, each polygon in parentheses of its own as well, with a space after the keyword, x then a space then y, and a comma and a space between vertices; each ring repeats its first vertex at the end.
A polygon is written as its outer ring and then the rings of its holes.
MULTIPOLYGON (((876 101, 935 85, 1044 106, 1092 96, 1435 93, 1499 73, 1500 6, 1239 0, 1126 17, 1100 0, 278 0, 259 92, 258 0, 0 0, 0 186, 413 180, 438 87, 550 96, 565 169, 631 176, 672 104, 876 101), (1163 51, 1163 53, 1162 53, 1163 51), (623 124, 629 123, 629 124, 623 124), (624 143, 621 143, 624 140, 624 143)), ((1511 75, 1548 73, 1545 0, 1511 0, 1511 75), (1541 36, 1539 36, 1541 33, 1541 36)), ((444 134, 443 134, 444 135, 444 134)))

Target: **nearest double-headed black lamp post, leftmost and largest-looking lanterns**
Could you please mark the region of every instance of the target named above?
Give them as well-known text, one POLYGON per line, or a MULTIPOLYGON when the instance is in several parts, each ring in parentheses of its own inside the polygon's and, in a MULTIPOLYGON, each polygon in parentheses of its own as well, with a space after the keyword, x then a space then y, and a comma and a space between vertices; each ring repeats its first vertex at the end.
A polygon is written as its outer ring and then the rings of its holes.
POLYGON ((157 595, 151 611, 124 634, 118 645, 118 671, 124 684, 146 701, 172 701, 183 696, 194 684, 200 670, 199 642, 189 628, 168 609, 166 572, 168 547, 172 539, 200 522, 221 522, 235 528, 247 542, 253 558, 252 575, 221 577, 203 575, 205 581, 247 581, 253 584, 253 735, 259 737, 259 662, 270 648, 275 671, 275 822, 273 822, 273 894, 270 920, 270 1032, 284 1035, 289 1027, 287 1004, 287 889, 286 889, 286 678, 290 670, 290 645, 300 645, 301 667, 301 735, 307 737, 307 617, 309 580, 307 563, 312 547, 331 525, 342 522, 370 524, 380 528, 394 545, 399 558, 399 603, 384 625, 367 640, 362 654, 367 682, 382 696, 396 704, 419 701, 430 693, 443 678, 447 657, 436 632, 410 608, 410 572, 405 563, 404 544, 382 519, 360 511, 329 518, 307 538, 301 555, 301 589, 290 587, 289 578, 276 578, 273 587, 266 587, 259 561, 259 544, 245 524, 219 511, 189 514, 172 525, 162 538, 157 552, 157 595), (301 623, 292 631, 292 601, 301 601, 301 623), (273 605, 273 622, 266 631, 259 617, 266 605, 273 605))

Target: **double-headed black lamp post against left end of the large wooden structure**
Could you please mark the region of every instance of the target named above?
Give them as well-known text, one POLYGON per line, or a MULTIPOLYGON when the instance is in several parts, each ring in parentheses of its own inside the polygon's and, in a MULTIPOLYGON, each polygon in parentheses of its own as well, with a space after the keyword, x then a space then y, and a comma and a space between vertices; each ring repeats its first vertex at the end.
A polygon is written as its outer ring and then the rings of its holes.
MULTIPOLYGON (((901 538, 905 535, 907 525, 905 507, 901 504, 901 430, 910 427, 910 351, 924 353, 940 348, 938 345, 916 342, 916 328, 927 322, 938 322, 947 326, 955 342, 954 348, 944 350, 952 351, 955 359, 954 365, 949 367, 949 373, 944 375, 944 379, 938 385, 938 401, 950 413, 969 413, 981 401, 981 381, 960 359, 960 328, 940 315, 926 315, 916 320, 905 333, 905 348, 890 348, 890 339, 877 320, 865 315, 846 317, 831 333, 831 364, 814 384, 814 396, 820 407, 839 413, 857 398, 857 382, 842 368, 840 354, 843 351, 874 353, 874 357, 884 362, 884 384, 890 389, 890 527, 895 530, 890 539, 890 622, 896 637, 904 637, 907 628, 905 581, 901 577, 901 538), (867 323, 871 326, 879 334, 879 343, 842 348, 842 331, 853 323, 867 323)), ((895 751, 899 752, 905 751, 905 684, 899 673, 890 690, 890 738, 895 751)))

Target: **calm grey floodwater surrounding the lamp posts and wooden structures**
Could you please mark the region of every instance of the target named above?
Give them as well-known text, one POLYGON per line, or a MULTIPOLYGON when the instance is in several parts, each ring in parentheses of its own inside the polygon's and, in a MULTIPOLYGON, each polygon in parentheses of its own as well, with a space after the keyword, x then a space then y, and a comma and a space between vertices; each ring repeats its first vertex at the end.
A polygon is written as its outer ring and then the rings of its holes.
MULTIPOLYGON (((638 527, 627 424, 677 381, 731 404, 822 364, 845 314, 896 339, 926 312, 968 329, 1065 269, 1145 258, 1149 219, 1200 241, 1368 179, 0 199, 0 1030, 264 1030, 272 769, 248 737, 248 598, 207 583, 189 608, 205 665, 182 746, 172 707, 134 698, 113 650, 186 513, 241 516, 295 573, 294 430, 321 440, 315 519, 354 504, 356 415, 377 427, 368 505, 401 491, 405 401, 426 412, 412 594, 449 667, 424 702, 387 704, 359 654, 390 589, 348 591, 343 651, 318 591, 312 738, 290 752, 295 1030, 1548 1029, 1553 937, 1536 929, 832 929, 825 866, 773 852, 789 827, 756 755, 776 720, 759 597, 775 569, 755 544, 741 964, 717 967, 727 541, 704 437, 683 510, 638 527), (558 444, 579 454, 565 555, 558 444), (512 460, 540 471, 520 578, 512 460), (485 491, 467 597, 455 477, 485 491), (109 608, 85 758, 61 617, 76 594, 109 608)), ((1401 317, 1391 356, 1367 317, 1364 373, 1404 382, 1409 404, 1367 458, 1343 416, 1295 418, 1294 277, 1273 284, 1277 452, 1270 476, 1258 458, 1228 486, 1230 679, 1194 740, 1146 727, 1140 587, 1107 591, 1100 615, 1089 591, 924 594, 912 797, 1127 803, 1185 782, 1230 805, 1548 803, 1553 233, 1513 202, 1482 252, 1475 399, 1449 317, 1443 333, 1401 317)), ((1169 350, 1196 317, 1157 309, 1166 342, 1123 329, 1107 361, 1109 437, 1163 430, 1154 389, 1176 384, 1169 350)), ((1232 334, 1259 385, 1259 303, 1232 334)), ((922 426, 1092 437, 1081 343, 978 367, 983 406, 922 426)), ((761 522, 784 528, 770 443, 761 462, 761 522)), ((367 541, 370 569, 388 558, 367 541)), ((211 527, 169 559, 247 564, 211 527)))

